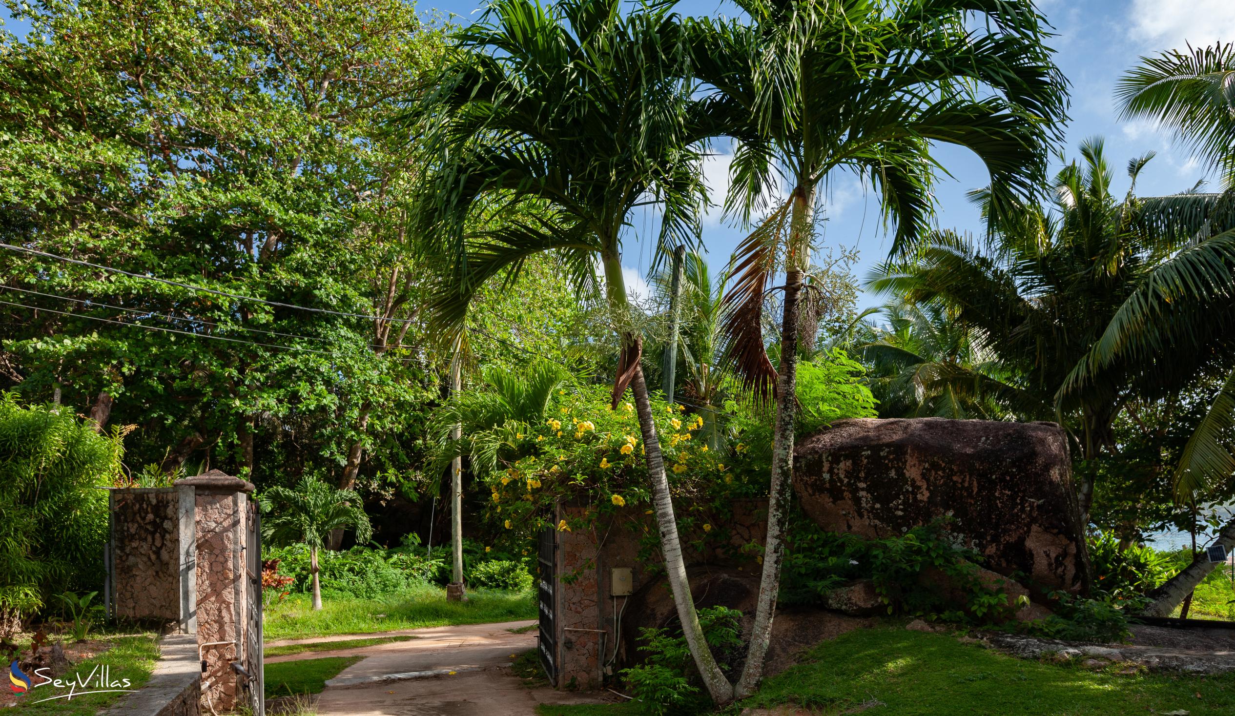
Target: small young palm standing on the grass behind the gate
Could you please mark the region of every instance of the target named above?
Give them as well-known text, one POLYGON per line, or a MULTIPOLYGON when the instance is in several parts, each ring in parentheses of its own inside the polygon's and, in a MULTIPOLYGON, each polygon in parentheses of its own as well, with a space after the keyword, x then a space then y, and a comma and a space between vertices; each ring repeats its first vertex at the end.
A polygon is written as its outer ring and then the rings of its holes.
POLYGON ((317 552, 326 546, 332 530, 356 530, 357 542, 373 536, 369 517, 359 495, 338 490, 314 477, 300 478, 295 489, 270 488, 261 496, 263 538, 275 547, 309 546, 309 574, 312 579, 312 607, 321 609, 321 581, 317 579, 317 552))

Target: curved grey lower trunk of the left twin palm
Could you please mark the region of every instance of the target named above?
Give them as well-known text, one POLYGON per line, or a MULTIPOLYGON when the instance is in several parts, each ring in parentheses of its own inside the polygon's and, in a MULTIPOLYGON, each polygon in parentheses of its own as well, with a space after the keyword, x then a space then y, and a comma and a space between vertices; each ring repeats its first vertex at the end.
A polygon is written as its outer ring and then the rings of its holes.
POLYGON ((664 553, 664 570, 673 590, 673 602, 678 607, 682 621, 682 633, 687 637, 690 654, 708 693, 718 705, 734 700, 734 688, 716 664, 708 641, 704 638, 699 615, 695 612, 694 599, 690 595, 690 581, 687 579, 687 565, 682 558, 682 542, 678 539, 678 522, 673 515, 673 500, 669 496, 669 481, 664 474, 664 459, 661 457, 661 442, 656 436, 656 423, 652 421, 652 402, 647 395, 647 383, 643 381, 642 367, 635 368, 631 380, 631 393, 635 395, 635 407, 638 411, 638 427, 643 436, 643 451, 647 458, 647 475, 652 481, 652 505, 656 509, 656 523, 661 530, 661 549, 664 553))

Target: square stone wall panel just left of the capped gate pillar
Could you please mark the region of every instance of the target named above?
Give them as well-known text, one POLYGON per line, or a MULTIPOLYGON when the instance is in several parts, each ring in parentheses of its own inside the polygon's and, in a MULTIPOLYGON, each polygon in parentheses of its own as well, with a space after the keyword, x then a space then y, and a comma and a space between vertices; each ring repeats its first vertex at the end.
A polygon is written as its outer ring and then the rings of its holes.
POLYGON ((191 588, 185 562, 194 559, 191 491, 178 488, 110 490, 112 615, 121 620, 177 622, 191 631, 191 588), (188 514, 185 514, 188 510, 188 514))

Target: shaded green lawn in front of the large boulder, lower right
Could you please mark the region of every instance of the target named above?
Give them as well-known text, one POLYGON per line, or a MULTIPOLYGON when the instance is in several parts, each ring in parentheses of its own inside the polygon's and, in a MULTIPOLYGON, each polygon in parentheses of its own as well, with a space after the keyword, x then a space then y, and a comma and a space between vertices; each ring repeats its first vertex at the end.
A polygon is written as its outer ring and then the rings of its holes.
MULTIPOLYGON (((820 644, 797 667, 718 714, 795 704, 820 715, 1125 716, 1235 714, 1235 675, 1091 672, 1026 662, 955 636, 898 627, 858 630, 820 644)), ((637 704, 541 706, 541 716, 627 716, 637 704)))

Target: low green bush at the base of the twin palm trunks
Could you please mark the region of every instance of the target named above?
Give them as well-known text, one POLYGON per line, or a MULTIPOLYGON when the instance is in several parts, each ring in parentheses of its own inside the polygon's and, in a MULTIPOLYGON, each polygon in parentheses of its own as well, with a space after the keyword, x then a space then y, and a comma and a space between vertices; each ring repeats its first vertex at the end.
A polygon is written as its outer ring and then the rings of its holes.
MULTIPOLYGON (((724 606, 699 610, 699 625, 704 638, 726 676, 732 678, 737 660, 743 656, 740 621, 742 612, 724 606)), ((647 654, 645 662, 622 669, 626 688, 635 695, 646 714, 700 714, 711 705, 703 685, 687 638, 663 628, 642 628, 643 644, 638 651, 647 654)))

